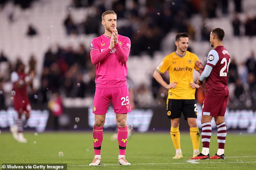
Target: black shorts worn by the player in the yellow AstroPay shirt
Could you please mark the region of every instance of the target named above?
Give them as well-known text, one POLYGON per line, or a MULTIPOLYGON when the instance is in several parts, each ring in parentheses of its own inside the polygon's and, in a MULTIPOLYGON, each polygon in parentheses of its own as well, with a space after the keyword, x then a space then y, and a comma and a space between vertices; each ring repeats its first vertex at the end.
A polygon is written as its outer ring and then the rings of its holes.
POLYGON ((167 99, 167 117, 169 119, 180 118, 183 112, 185 120, 188 117, 197 118, 197 104, 195 99, 167 99))

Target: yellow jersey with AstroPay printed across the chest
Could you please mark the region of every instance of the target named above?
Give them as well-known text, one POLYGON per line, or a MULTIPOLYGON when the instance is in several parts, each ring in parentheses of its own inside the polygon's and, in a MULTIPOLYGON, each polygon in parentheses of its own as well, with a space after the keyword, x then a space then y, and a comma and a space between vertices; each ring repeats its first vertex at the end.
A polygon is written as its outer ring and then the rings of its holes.
POLYGON ((170 53, 159 64, 156 71, 164 74, 166 70, 169 72, 170 83, 178 82, 176 88, 171 88, 168 91, 168 99, 195 99, 195 89, 190 87, 193 82, 193 71, 200 70, 195 66, 195 61, 198 57, 189 51, 183 56, 176 52, 170 53))

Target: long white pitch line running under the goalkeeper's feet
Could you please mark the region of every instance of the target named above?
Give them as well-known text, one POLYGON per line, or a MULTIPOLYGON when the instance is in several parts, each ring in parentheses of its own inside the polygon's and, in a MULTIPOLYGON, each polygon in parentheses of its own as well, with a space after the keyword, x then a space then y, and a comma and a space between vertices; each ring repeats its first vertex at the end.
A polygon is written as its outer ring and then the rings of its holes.
MULTIPOLYGON (((194 160, 195 161, 195 160, 194 160)), ((199 162, 198 162, 199 163, 199 162)), ((250 161, 250 162, 200 162, 200 164, 227 164, 227 163, 231 163, 231 164, 235 164, 235 163, 256 163, 256 161, 250 161)), ((132 164, 132 165, 175 165, 175 164, 190 164, 187 162, 184 163, 148 163, 148 164, 132 164)), ((101 164, 99 166, 120 166, 118 164, 101 164)), ((68 165, 68 166, 89 166, 89 165, 68 165)))

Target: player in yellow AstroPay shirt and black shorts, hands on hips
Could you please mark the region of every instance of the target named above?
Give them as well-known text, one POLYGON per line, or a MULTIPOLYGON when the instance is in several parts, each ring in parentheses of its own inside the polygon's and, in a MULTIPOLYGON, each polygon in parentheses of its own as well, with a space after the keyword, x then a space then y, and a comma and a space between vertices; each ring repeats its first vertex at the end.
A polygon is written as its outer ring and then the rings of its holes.
POLYGON ((189 35, 178 33, 175 37, 176 51, 170 53, 159 64, 153 77, 155 80, 168 89, 167 117, 171 120, 170 134, 176 150, 173 159, 183 158, 180 148, 179 122, 181 113, 187 120, 190 127, 190 136, 193 144, 193 157, 199 154, 199 129, 197 127, 197 104, 195 102, 195 89, 198 84, 193 82, 193 70, 201 70, 195 66, 198 57, 189 51, 189 35), (162 74, 168 71, 170 83, 167 84, 162 74))

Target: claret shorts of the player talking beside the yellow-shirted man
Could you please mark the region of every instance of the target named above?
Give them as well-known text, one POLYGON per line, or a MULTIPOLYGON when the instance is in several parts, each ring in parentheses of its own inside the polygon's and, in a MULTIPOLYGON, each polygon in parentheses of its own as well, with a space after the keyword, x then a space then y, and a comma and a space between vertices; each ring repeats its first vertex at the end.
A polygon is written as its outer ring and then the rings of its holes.
POLYGON ((213 96, 207 94, 204 98, 203 113, 202 115, 208 115, 212 117, 224 116, 227 109, 227 96, 213 96))

